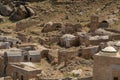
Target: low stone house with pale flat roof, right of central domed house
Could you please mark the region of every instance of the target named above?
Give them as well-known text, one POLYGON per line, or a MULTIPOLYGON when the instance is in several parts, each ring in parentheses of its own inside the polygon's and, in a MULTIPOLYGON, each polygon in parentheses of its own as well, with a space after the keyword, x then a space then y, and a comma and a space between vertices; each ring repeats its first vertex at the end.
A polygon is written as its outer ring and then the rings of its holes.
POLYGON ((91 35, 88 33, 77 33, 79 37, 79 44, 83 46, 90 46, 90 45, 99 45, 102 42, 110 41, 110 37, 107 35, 91 35))

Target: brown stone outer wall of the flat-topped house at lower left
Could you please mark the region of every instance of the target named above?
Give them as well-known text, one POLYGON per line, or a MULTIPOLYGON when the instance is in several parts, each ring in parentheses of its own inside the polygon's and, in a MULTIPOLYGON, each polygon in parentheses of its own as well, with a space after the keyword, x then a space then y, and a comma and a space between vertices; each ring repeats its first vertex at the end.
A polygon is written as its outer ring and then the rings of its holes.
POLYGON ((41 70, 25 70, 24 68, 20 68, 15 65, 9 65, 7 68, 7 74, 10 75, 13 79, 20 79, 23 77, 23 80, 29 80, 31 78, 35 78, 37 74, 40 74, 41 70))

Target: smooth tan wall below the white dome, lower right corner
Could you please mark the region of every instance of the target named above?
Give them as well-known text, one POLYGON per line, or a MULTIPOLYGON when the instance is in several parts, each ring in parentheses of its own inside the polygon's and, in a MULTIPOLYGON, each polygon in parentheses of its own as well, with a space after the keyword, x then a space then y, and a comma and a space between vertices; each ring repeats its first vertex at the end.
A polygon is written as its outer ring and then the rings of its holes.
POLYGON ((95 55, 93 74, 93 80, 114 80, 115 77, 120 79, 120 58, 95 55))

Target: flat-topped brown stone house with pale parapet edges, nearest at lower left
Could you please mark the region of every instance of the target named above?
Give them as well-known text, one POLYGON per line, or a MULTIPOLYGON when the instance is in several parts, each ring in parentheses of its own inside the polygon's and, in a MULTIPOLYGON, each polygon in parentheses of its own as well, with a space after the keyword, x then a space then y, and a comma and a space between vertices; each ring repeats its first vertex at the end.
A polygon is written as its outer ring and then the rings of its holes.
POLYGON ((7 74, 13 80, 35 80, 36 75, 41 73, 38 67, 40 67, 38 64, 31 62, 11 63, 7 68, 7 74))

